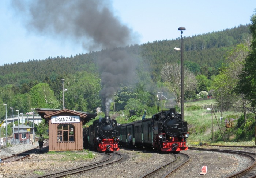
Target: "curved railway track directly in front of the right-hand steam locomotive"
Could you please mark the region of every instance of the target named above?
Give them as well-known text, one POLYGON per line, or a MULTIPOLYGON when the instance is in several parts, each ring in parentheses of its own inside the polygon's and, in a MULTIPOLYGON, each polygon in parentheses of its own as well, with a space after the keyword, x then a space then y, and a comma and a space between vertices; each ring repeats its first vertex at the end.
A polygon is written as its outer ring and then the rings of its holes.
MULTIPOLYGON (((172 153, 169 153, 172 154, 172 153)), ((140 178, 147 178, 147 177, 162 177, 166 178, 170 174, 172 174, 175 170, 181 168, 186 162, 189 161, 190 157, 187 154, 179 153, 173 154, 174 159, 163 166, 157 167, 153 171, 148 172, 147 174, 143 175, 140 178), (172 169, 170 170, 170 167, 172 169)))

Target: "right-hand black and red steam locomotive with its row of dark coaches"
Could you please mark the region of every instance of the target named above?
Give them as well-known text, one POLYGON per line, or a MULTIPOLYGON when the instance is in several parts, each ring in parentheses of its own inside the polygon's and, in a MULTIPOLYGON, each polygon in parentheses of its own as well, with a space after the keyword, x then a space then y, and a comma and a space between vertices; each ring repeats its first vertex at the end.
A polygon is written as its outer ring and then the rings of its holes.
POLYGON ((174 108, 119 127, 120 146, 128 145, 128 134, 131 134, 132 146, 176 153, 188 149, 188 123, 182 121, 181 114, 174 108))

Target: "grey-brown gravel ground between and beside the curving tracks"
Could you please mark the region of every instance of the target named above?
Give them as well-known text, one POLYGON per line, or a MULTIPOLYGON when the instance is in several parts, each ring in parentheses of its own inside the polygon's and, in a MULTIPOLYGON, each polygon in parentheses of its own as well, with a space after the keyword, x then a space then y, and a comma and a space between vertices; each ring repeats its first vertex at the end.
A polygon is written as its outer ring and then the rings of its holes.
MULTIPOLYGON (((11 154, 21 153, 23 151, 37 147, 37 145, 18 145, 9 148, 2 148, 0 150, 0 158, 10 156, 11 154)), ((248 150, 246 148, 237 148, 240 151, 255 152, 255 149, 248 150)), ((123 154, 123 161, 104 166, 97 170, 92 170, 81 177, 120 177, 120 178, 135 178, 144 175, 147 171, 153 170, 156 167, 166 162, 168 154, 163 153, 143 153, 138 150, 120 149, 123 154), (102 174, 104 172, 104 174, 102 174)), ((77 152, 78 154, 85 154, 85 152, 77 152)), ((227 175, 238 172, 247 167, 250 162, 238 155, 231 155, 219 152, 210 151, 196 151, 187 150, 182 153, 188 154, 191 160, 177 170, 171 178, 223 178, 227 175), (207 174, 200 175, 202 166, 207 166, 207 174)), ((39 173, 49 174, 57 171, 71 169, 87 165, 89 163, 98 162, 103 159, 103 155, 93 151, 94 158, 84 161, 62 161, 64 155, 54 155, 47 153, 32 154, 30 158, 17 162, 1 162, 0 178, 27 178, 37 177, 39 173)), ((74 176, 78 177, 78 175, 74 176)), ((71 178, 71 177, 70 177, 71 178)))

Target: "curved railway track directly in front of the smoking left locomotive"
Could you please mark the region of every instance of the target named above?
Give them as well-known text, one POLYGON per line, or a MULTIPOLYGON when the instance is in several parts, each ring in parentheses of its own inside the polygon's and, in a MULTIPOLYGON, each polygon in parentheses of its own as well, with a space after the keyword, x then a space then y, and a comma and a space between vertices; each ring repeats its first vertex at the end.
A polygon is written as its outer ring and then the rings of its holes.
POLYGON ((52 174, 42 175, 42 176, 39 176, 36 178, 60 178, 60 177, 64 177, 67 175, 81 174, 81 173, 85 173, 86 171, 98 168, 98 167, 102 167, 105 165, 112 164, 114 162, 118 162, 123 158, 123 156, 117 152, 113 152, 111 154, 109 154, 109 153, 103 153, 103 154, 108 155, 108 158, 103 161, 100 161, 97 163, 92 163, 90 165, 76 167, 74 169, 69 169, 69 170, 59 171, 59 172, 52 173, 52 174))

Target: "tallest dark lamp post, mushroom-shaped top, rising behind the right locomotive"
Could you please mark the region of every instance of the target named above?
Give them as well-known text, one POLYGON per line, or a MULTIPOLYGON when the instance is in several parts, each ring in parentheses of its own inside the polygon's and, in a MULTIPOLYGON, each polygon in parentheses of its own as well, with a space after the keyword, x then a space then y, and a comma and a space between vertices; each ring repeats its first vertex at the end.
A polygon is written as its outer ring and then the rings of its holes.
POLYGON ((185 30, 185 27, 179 27, 178 30, 181 31, 181 116, 182 116, 182 121, 184 121, 184 66, 183 66, 183 31, 185 30))

